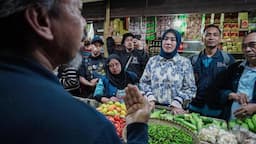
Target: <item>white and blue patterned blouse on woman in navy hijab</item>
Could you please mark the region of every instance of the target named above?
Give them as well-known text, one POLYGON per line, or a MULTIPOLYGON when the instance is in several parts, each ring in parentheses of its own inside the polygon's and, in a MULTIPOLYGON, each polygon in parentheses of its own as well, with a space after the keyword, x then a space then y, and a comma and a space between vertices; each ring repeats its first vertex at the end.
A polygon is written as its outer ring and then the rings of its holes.
POLYGON ((176 54, 172 59, 160 55, 149 59, 140 79, 140 89, 148 100, 182 108, 196 94, 192 65, 189 59, 176 54))

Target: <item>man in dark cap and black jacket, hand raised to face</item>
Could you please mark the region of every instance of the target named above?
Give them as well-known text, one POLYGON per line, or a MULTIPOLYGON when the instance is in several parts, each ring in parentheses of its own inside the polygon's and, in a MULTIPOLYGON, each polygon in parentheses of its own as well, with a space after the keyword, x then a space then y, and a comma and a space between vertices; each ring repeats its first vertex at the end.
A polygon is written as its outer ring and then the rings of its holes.
POLYGON ((112 37, 107 38, 107 48, 109 54, 115 53, 120 56, 127 70, 135 72, 138 78, 142 76, 149 56, 144 49, 134 48, 134 35, 132 33, 123 35, 121 50, 115 49, 116 45, 112 37))

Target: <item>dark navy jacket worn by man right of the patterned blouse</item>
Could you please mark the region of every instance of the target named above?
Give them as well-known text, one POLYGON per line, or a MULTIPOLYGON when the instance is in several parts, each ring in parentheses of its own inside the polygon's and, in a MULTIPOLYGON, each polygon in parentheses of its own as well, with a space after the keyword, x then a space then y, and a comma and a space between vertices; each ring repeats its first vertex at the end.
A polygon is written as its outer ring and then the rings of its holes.
MULTIPOLYGON (((198 60, 193 65, 197 94, 192 100, 192 105, 197 107, 203 107, 207 104, 212 109, 221 109, 219 107, 218 101, 216 99, 216 82, 219 79, 219 75, 223 73, 229 65, 235 62, 235 59, 229 55, 229 61, 225 62, 222 52, 218 50, 212 56, 212 62, 209 67, 205 68, 203 60, 206 59, 206 54, 204 51, 199 53, 198 60)), ((191 60, 192 61, 192 60, 191 60)))

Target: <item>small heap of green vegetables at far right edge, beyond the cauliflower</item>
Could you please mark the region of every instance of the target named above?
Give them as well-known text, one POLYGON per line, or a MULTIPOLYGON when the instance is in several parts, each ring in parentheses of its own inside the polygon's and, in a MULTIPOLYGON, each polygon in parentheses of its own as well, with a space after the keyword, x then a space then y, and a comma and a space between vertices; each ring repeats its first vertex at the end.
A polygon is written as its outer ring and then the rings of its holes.
POLYGON ((229 128, 233 129, 236 125, 246 128, 252 132, 256 132, 256 114, 251 117, 229 121, 229 128))

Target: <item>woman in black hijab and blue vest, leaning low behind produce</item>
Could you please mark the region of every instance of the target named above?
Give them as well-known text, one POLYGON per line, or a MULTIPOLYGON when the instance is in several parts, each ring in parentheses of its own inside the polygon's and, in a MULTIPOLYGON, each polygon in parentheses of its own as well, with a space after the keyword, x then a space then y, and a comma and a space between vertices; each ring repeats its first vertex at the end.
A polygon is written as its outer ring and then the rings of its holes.
POLYGON ((106 76, 99 80, 94 91, 95 99, 102 103, 121 101, 121 97, 125 94, 125 87, 138 82, 137 75, 126 71, 120 57, 116 54, 107 58, 105 71, 106 76))

